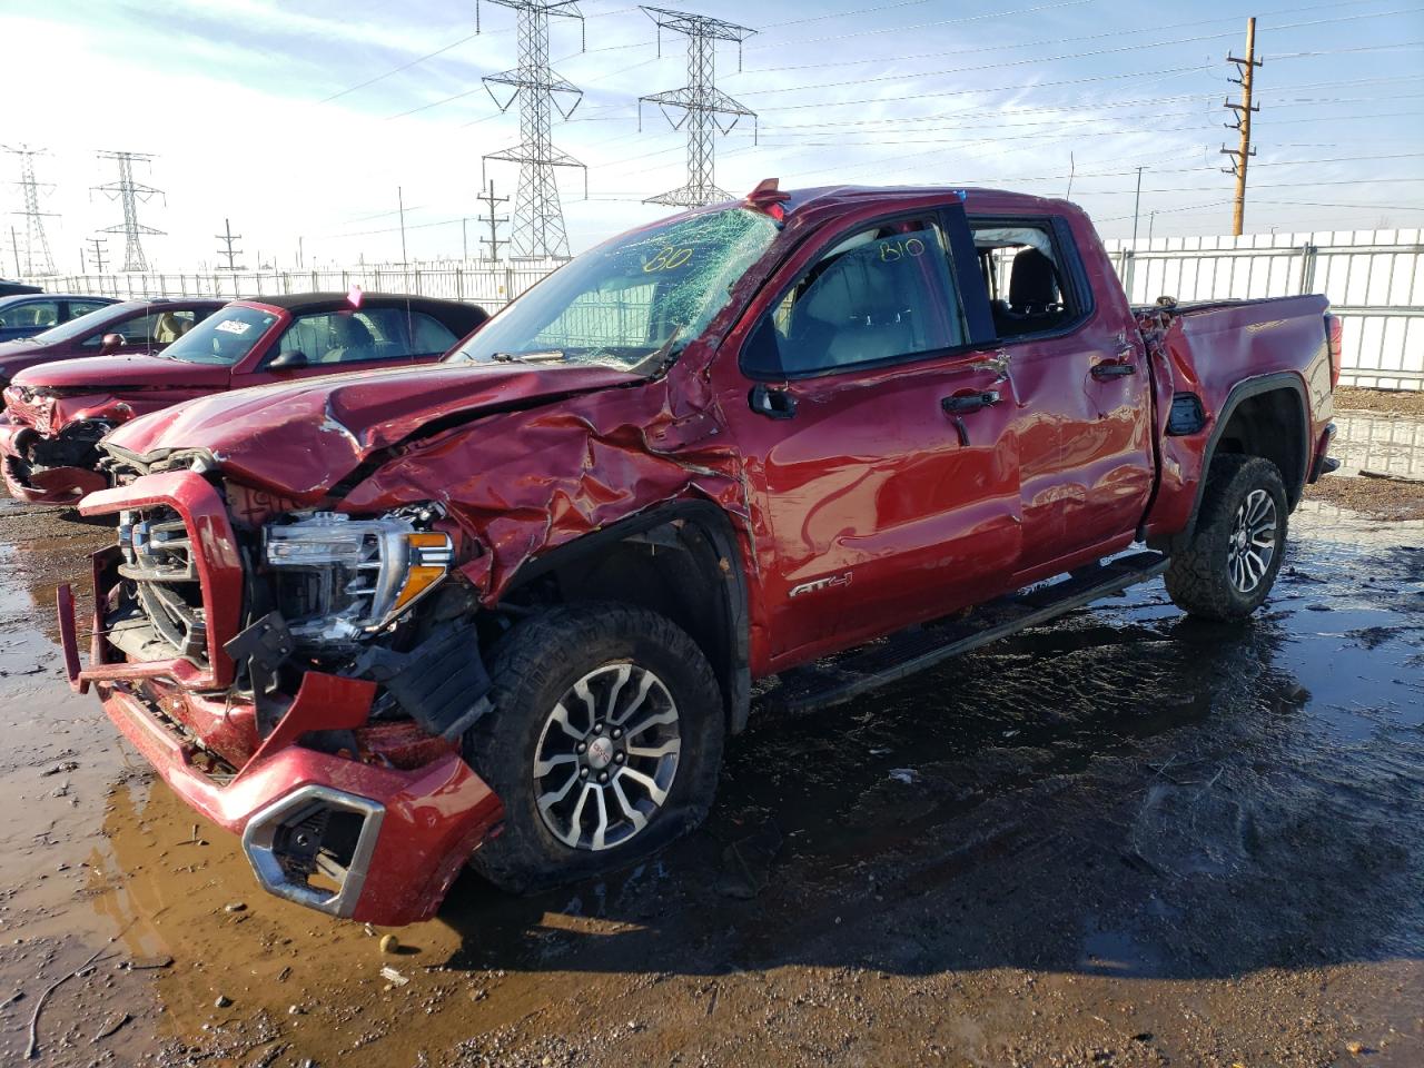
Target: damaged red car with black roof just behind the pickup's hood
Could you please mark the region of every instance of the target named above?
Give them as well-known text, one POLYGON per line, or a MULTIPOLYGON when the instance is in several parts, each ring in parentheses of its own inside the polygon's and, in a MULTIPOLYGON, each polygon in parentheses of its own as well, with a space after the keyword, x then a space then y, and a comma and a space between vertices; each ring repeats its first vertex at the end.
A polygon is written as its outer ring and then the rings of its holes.
POLYGON ((161 353, 21 370, 4 390, 0 470, 11 497, 74 504, 108 486, 98 441, 135 416, 245 386, 430 362, 487 318, 459 300, 382 293, 235 300, 161 353))

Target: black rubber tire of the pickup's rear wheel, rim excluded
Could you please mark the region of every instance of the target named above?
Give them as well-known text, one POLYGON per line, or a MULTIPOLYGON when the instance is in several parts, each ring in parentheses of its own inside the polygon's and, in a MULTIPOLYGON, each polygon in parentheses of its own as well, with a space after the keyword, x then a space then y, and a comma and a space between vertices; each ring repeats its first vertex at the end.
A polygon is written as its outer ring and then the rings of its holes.
MULTIPOLYGON (((1256 498, 1260 500, 1260 498, 1256 498)), ((1250 615, 1270 594, 1280 571, 1287 533, 1286 486, 1280 470, 1259 456, 1219 456, 1212 460, 1206 493, 1190 544, 1172 555, 1166 591, 1178 608, 1205 619, 1235 621, 1250 615), (1232 578, 1237 520, 1247 498, 1265 491, 1274 506, 1274 550, 1263 572, 1249 590, 1232 578)))

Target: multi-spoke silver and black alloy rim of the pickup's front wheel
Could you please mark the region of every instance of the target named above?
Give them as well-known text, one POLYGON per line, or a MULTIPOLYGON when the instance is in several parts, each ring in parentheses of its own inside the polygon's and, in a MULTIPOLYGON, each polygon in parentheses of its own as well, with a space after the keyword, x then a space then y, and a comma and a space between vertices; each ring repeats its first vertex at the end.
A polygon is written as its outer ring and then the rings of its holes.
POLYGON ((555 702, 534 749, 544 826, 571 849, 641 833, 668 800, 682 750, 672 693, 638 664, 607 664, 555 702))

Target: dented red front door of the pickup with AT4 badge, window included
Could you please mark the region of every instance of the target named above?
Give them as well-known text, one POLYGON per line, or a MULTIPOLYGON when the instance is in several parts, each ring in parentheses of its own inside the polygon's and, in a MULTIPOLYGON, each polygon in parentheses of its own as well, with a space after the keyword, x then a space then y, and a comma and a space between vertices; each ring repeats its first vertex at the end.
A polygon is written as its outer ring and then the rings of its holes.
POLYGON ((813 239, 753 305, 722 407, 769 527, 773 669, 946 615, 1014 572, 1020 409, 983 350, 977 269, 954 204, 813 239))

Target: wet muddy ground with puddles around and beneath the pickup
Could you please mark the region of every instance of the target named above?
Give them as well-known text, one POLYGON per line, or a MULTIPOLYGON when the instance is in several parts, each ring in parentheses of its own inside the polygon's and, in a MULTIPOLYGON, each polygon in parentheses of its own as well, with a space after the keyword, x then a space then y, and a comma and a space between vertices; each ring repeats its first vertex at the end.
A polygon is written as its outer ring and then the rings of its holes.
POLYGON ((41 1000, 41 1065, 1424 1064, 1424 523, 1307 500, 1239 627, 1153 582, 753 715, 656 863, 464 876, 396 956, 64 686, 110 537, 0 501, 0 1064, 41 1000))

